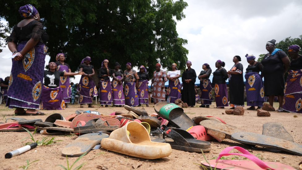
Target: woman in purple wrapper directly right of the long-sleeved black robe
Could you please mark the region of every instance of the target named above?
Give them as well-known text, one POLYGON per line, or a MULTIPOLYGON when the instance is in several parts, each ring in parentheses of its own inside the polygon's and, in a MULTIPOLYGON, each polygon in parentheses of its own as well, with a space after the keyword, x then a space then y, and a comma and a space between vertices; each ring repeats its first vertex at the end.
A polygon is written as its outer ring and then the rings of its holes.
POLYGON ((199 107, 206 107, 209 108, 212 104, 213 97, 212 97, 212 83, 209 79, 212 69, 208 63, 204 63, 202 65, 203 71, 200 72, 198 79, 200 80, 200 99, 201 105, 199 107))

